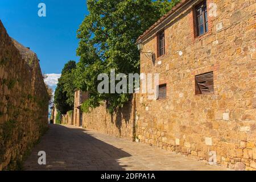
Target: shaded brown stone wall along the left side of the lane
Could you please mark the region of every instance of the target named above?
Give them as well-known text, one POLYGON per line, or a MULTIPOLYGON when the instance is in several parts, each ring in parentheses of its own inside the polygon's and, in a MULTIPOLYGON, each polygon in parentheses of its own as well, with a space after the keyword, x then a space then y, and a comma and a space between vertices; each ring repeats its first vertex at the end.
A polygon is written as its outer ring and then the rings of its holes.
POLYGON ((0 170, 20 169, 47 123, 48 94, 38 58, 12 40, 0 21, 0 170))

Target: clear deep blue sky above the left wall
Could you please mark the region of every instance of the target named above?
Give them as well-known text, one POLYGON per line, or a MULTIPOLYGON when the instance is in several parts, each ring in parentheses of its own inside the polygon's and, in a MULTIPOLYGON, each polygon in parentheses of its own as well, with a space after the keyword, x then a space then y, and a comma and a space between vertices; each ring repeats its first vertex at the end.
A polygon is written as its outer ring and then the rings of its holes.
POLYGON ((8 34, 38 55, 43 73, 61 73, 68 60, 79 60, 76 31, 87 14, 86 0, 0 1, 0 19, 8 34), (40 18, 41 2, 46 17, 40 18))

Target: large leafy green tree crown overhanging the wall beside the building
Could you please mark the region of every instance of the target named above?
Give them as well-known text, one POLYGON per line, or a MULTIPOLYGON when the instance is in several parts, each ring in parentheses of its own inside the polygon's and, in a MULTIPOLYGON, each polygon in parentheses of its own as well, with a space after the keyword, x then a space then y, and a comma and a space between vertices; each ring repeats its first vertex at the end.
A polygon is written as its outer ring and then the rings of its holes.
MULTIPOLYGON (((139 51, 135 42, 175 3, 151 0, 88 0, 89 15, 82 22, 77 37, 79 48, 75 85, 89 91, 86 107, 97 107, 107 101, 110 112, 122 107, 129 94, 100 94, 97 85, 100 73, 138 73, 139 51)), ((86 110, 86 108, 85 108, 86 110)))

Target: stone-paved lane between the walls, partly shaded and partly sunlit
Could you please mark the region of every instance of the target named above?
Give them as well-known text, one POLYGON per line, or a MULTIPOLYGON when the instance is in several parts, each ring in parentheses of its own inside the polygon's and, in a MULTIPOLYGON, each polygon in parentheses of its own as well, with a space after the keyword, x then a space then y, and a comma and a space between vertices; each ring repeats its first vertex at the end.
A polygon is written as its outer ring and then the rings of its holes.
POLYGON ((26 170, 222 170, 147 144, 76 126, 50 125, 24 162, 26 170), (46 165, 38 152, 46 151, 46 165))

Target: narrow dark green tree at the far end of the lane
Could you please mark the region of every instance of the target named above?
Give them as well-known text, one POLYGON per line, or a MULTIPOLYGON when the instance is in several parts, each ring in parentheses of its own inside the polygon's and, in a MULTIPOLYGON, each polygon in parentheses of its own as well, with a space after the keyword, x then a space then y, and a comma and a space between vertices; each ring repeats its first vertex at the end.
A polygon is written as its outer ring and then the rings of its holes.
POLYGON ((55 90, 54 103, 61 114, 66 114, 67 111, 72 110, 74 107, 74 93, 76 88, 73 84, 75 76, 72 74, 72 71, 75 68, 75 61, 68 61, 64 65, 55 90))

